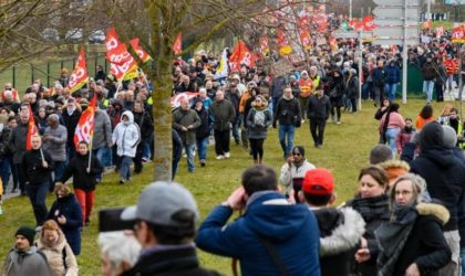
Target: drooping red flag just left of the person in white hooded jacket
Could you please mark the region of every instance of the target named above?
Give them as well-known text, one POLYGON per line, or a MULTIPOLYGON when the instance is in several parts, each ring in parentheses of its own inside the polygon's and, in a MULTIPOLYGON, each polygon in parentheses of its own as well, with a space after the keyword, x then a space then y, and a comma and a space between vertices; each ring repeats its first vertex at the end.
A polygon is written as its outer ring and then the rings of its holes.
POLYGON ((87 106, 87 109, 82 113, 79 118, 76 129, 74 130, 74 146, 78 148, 80 141, 85 141, 87 145, 91 145, 92 137, 94 136, 94 125, 95 125, 95 105, 96 105, 96 94, 91 99, 91 103, 87 106))

